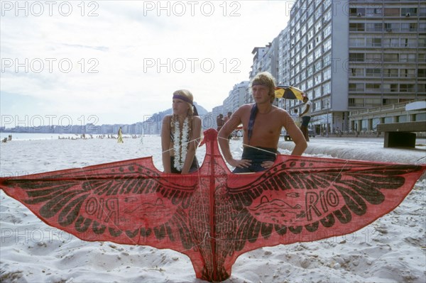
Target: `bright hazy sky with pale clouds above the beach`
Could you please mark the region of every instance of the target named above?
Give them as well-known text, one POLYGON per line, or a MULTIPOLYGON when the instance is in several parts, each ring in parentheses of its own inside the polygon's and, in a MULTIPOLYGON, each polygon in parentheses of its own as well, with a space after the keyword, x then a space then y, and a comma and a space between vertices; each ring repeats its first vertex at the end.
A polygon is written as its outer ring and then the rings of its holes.
POLYGON ((130 124, 249 80, 293 1, 1 1, 1 125, 130 124))

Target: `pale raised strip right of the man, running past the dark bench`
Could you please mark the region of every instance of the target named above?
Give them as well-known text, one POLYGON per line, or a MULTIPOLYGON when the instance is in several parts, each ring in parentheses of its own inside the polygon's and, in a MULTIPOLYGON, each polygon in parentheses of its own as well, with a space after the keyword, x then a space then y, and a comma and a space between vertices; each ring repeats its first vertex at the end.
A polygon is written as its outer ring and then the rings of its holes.
MULTIPOLYGON (((278 149, 293 150, 292 141, 280 138, 278 149)), ((283 152, 288 153, 288 152, 283 152)), ((347 160, 366 160, 405 164, 426 164, 426 140, 417 138, 416 148, 383 148, 383 138, 310 138, 304 155, 336 157, 347 160)))

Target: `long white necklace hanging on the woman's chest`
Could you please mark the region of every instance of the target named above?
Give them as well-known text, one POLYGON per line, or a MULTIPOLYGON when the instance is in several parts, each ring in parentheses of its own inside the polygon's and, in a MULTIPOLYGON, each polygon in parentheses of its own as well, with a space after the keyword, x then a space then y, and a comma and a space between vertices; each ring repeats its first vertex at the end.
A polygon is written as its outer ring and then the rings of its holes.
POLYGON ((180 128, 179 119, 176 119, 175 133, 173 133, 173 138, 175 140, 173 144, 173 149, 175 150, 174 165, 175 168, 179 171, 182 171, 183 165, 185 163, 189 135, 190 127, 188 123, 188 118, 185 118, 185 121, 183 121, 182 129, 180 128))

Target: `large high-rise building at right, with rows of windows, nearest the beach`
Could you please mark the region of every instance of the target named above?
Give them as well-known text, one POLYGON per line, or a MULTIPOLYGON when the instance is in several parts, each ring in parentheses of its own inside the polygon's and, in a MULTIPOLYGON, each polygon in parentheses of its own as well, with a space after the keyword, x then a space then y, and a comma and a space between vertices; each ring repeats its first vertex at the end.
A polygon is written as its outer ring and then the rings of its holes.
POLYGON ((363 128, 352 110, 426 98, 425 1, 297 0, 278 38, 278 82, 305 90, 317 133, 363 128))

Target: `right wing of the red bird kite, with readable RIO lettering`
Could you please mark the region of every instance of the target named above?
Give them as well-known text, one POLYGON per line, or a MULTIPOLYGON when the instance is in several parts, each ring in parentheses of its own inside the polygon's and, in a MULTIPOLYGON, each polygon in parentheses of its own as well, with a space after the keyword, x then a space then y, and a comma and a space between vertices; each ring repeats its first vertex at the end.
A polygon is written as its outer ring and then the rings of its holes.
POLYGON ((217 189, 217 255, 226 277, 249 250, 357 231, 393 211, 425 165, 278 155, 263 173, 230 174, 217 189))

